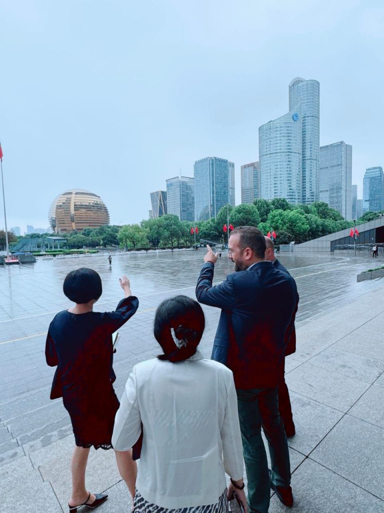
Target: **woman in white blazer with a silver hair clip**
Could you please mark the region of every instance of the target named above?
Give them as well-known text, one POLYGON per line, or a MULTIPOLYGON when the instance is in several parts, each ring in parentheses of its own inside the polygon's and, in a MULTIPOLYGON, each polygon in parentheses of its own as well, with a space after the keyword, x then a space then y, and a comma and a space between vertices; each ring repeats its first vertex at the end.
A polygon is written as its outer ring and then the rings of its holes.
POLYGON ((142 438, 135 513, 224 513, 234 490, 247 511, 232 371, 197 349, 204 325, 197 301, 163 301, 154 324, 163 354, 126 382, 112 443, 125 451, 142 438))

